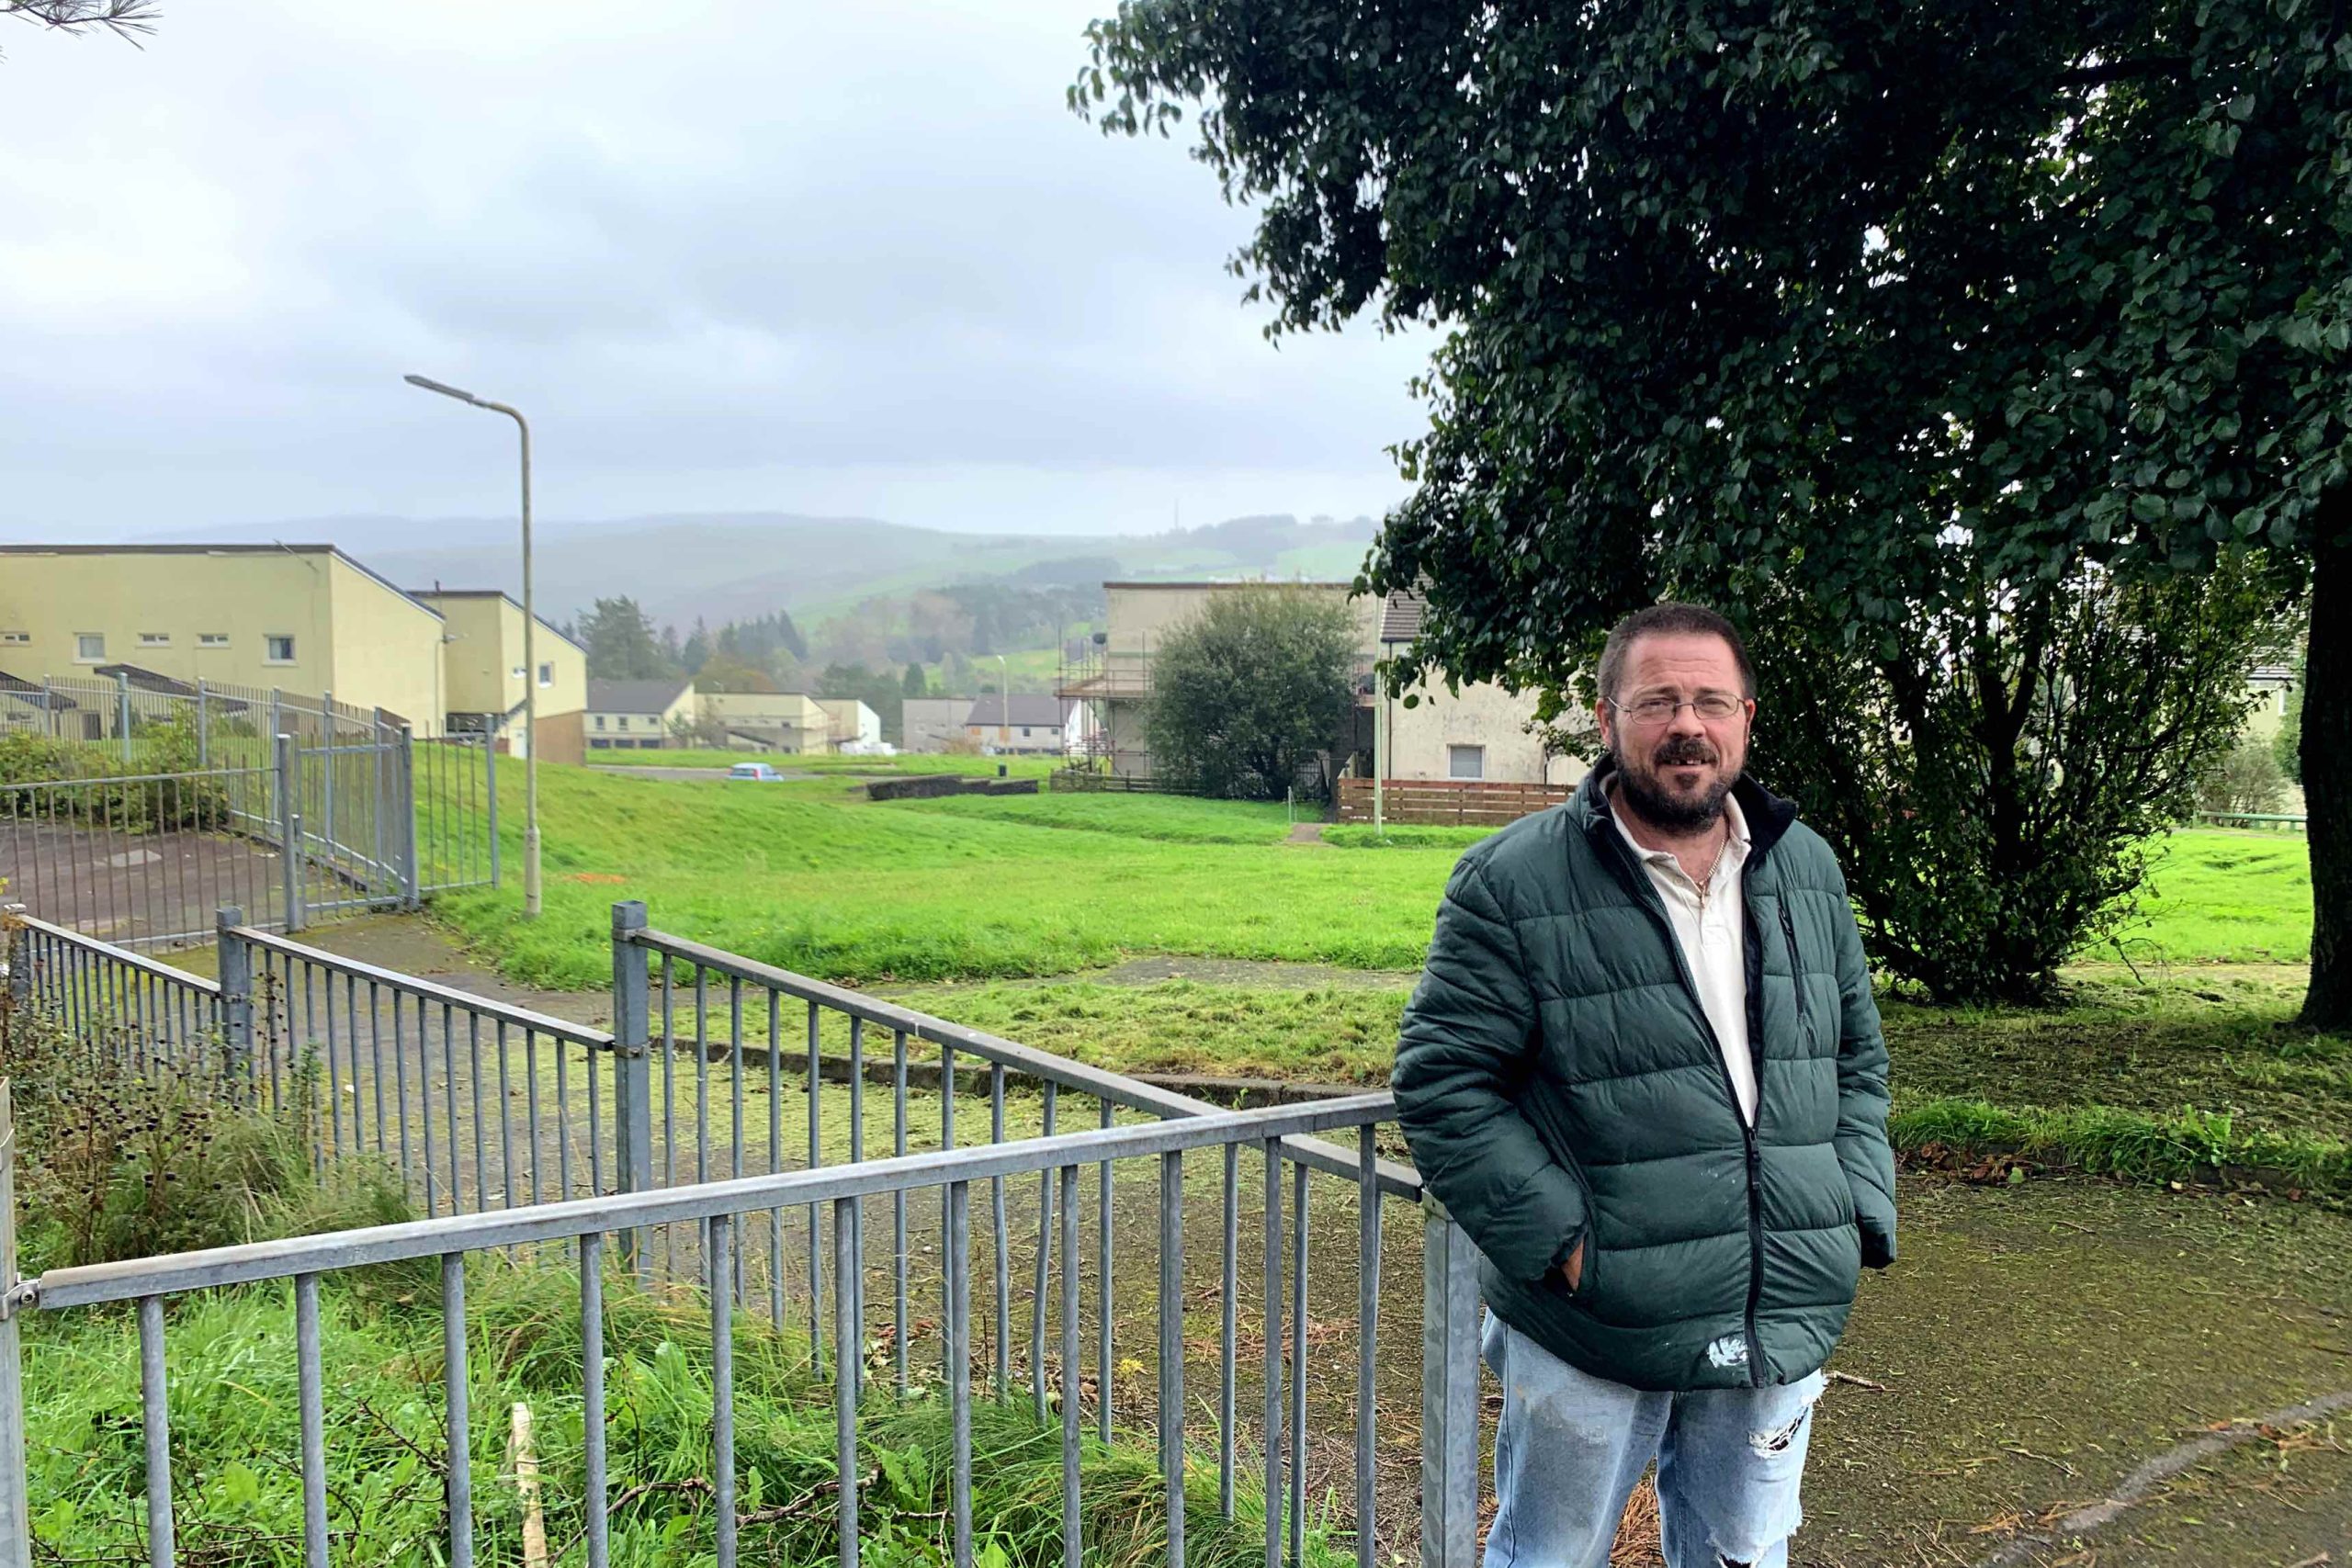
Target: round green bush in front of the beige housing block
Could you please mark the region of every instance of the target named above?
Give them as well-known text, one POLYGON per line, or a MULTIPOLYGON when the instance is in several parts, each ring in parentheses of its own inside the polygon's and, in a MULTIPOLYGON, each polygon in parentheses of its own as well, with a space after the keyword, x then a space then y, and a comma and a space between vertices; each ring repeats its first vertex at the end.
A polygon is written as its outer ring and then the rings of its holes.
POLYGON ((1152 654, 1152 771, 1230 799, 1319 792, 1317 762, 1345 743, 1355 712, 1352 665, 1345 604, 1277 585, 1209 595, 1152 654))

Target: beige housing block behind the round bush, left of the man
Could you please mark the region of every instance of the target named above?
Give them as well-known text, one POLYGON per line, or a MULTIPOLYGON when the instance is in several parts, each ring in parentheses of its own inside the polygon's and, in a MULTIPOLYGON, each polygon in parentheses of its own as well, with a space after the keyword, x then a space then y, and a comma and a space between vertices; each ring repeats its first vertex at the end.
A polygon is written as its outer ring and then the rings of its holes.
MULTIPOLYGON (((1374 665, 1411 642, 1421 628, 1416 595, 1350 597, 1350 583, 1103 583, 1108 623, 1096 654, 1061 684, 1061 696, 1091 710, 1089 750, 1112 773, 1148 778, 1150 745, 1143 703, 1152 693, 1152 654, 1192 623, 1214 595, 1308 592, 1348 609, 1357 637, 1357 705, 1345 733, 1331 738, 1334 778, 1385 778, 1432 785, 1566 788, 1583 778, 1583 762, 1550 752, 1534 731, 1534 693, 1512 696, 1496 684, 1449 691, 1442 675, 1402 696, 1378 691, 1374 665)), ((1531 797, 1536 799, 1536 797, 1531 797)))

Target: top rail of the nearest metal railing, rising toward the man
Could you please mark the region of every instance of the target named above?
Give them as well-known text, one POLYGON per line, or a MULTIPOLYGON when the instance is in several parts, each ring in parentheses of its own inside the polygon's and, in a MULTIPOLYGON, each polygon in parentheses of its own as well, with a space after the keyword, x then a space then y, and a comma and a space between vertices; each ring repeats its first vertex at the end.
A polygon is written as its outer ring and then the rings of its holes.
POLYGON ((1065 1166, 1091 1166, 1112 1159, 1178 1154, 1183 1150, 1237 1143, 1268 1143, 1296 1133, 1367 1126, 1397 1114, 1388 1093, 1350 1095, 1310 1105, 1268 1105, 1258 1110, 1174 1117, 1136 1126, 1105 1126, 1054 1138, 985 1143, 962 1150, 898 1154, 854 1166, 818 1166, 814 1171, 779 1171, 743 1175, 694 1187, 659 1187, 616 1192, 593 1199, 567 1199, 529 1208, 492 1208, 435 1220, 369 1225, 365 1229, 322 1237, 289 1237, 245 1246, 214 1246, 167 1258, 132 1258, 49 1269, 26 1284, 35 1307, 92 1307, 99 1302, 176 1295, 216 1286, 289 1279, 412 1258, 447 1258, 529 1241, 572 1241, 583 1234, 607 1234, 713 1215, 793 1208, 837 1199, 922 1192, 955 1182, 1028 1175, 1065 1166))

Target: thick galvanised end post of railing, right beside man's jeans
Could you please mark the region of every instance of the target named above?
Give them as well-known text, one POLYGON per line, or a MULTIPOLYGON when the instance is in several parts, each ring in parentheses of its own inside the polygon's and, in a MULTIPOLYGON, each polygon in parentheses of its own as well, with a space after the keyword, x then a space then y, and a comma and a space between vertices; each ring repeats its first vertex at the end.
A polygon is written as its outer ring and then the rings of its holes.
POLYGON ((1421 1568, 1475 1568, 1477 1248, 1437 1199, 1421 1215, 1421 1568))

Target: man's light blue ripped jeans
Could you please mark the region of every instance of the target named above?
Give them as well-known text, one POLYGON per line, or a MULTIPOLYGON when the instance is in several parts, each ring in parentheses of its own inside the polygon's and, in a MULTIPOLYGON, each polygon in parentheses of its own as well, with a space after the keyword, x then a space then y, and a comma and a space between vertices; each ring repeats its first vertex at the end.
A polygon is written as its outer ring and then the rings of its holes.
POLYGON ((1491 1312, 1484 1352, 1503 1385, 1484 1568, 1604 1568, 1651 1458, 1668 1568, 1785 1568, 1820 1373, 1646 1394, 1576 1371, 1491 1312))

